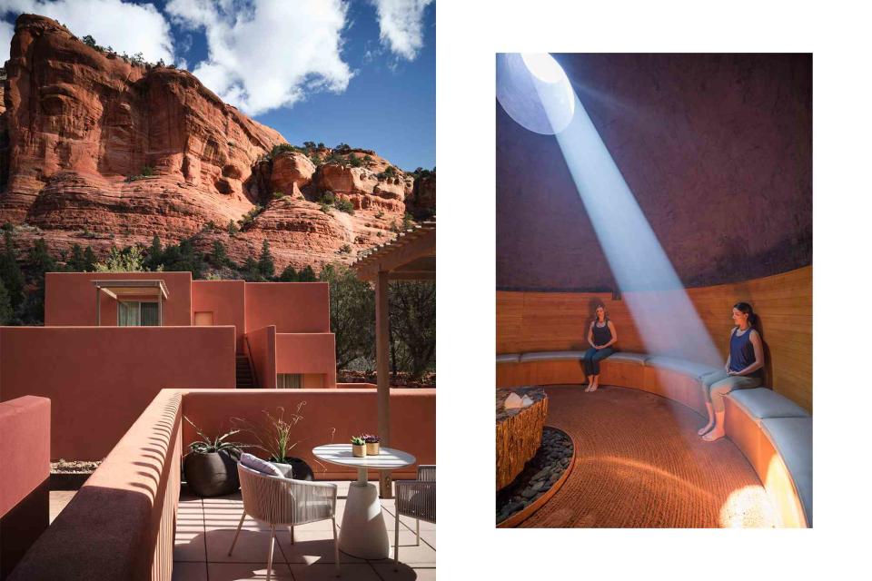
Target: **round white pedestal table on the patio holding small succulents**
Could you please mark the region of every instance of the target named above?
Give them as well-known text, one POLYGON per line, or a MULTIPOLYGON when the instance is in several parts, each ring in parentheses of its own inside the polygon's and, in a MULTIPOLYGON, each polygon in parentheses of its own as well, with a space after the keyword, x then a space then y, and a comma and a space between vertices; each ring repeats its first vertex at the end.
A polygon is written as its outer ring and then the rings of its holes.
POLYGON ((396 470, 415 463, 415 457, 401 450, 381 447, 378 456, 355 458, 351 444, 327 444, 312 448, 315 458, 330 464, 357 468, 357 480, 348 487, 342 514, 339 548, 364 559, 385 559, 391 555, 388 528, 381 516, 379 490, 367 481, 367 470, 396 470))

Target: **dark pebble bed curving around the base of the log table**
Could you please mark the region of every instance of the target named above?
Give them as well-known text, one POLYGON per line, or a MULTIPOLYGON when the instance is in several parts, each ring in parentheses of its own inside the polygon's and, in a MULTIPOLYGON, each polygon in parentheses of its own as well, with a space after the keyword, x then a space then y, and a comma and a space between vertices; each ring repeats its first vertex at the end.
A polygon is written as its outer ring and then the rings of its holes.
POLYGON ((554 428, 542 430, 542 445, 524 470, 497 493, 497 524, 530 506, 554 486, 572 459, 572 440, 554 428))

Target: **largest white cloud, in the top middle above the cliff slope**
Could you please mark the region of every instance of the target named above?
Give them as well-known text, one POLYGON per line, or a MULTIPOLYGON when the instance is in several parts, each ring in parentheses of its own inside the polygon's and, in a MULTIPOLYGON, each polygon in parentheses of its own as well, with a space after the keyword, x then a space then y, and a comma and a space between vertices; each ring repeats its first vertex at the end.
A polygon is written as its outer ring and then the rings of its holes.
POLYGON ((192 71, 227 103, 257 115, 312 91, 342 93, 347 6, 341 0, 171 0, 166 13, 203 29, 209 58, 192 71))

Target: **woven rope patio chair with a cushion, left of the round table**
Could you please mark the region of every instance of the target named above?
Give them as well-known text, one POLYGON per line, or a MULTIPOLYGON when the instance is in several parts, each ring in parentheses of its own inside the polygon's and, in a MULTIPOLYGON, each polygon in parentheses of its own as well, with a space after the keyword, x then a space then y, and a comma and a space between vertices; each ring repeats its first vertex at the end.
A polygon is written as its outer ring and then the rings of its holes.
POLYGON ((239 484, 243 488, 243 516, 236 527, 233 544, 227 555, 233 553, 245 516, 270 526, 270 553, 266 562, 266 579, 272 574, 272 548, 275 545, 275 527, 293 527, 330 518, 333 523, 333 547, 336 575, 339 575, 339 544, 336 542, 336 485, 330 482, 309 482, 277 476, 267 476, 242 464, 239 484))

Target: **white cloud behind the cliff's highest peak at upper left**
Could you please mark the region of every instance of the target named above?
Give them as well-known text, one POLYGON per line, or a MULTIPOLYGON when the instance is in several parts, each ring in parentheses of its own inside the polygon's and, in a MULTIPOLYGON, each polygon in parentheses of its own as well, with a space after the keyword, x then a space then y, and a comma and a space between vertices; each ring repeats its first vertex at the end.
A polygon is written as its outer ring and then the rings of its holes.
MULTIPOLYGON (((173 63, 170 25, 154 5, 127 4, 121 0, 3 0, 0 15, 44 15, 66 25, 82 38, 94 36, 97 44, 116 52, 142 53, 149 62, 173 63)), ((0 59, 9 58, 9 38, 0 28, 0 59)))

